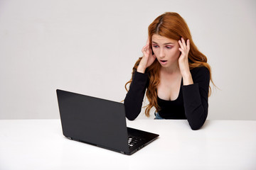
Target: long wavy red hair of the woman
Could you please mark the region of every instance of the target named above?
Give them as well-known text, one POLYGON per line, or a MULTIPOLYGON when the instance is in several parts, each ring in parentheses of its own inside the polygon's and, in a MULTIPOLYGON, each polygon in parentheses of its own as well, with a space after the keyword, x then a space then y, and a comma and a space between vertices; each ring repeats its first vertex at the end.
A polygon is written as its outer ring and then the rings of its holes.
MULTIPOLYGON (((191 32, 186 24, 186 21, 178 14, 174 12, 166 12, 161 16, 157 17, 153 23, 149 25, 149 46, 152 46, 152 35, 157 34, 166 38, 173 40, 181 40, 181 37, 186 41, 189 39, 190 50, 188 52, 188 64, 189 69, 195 67, 206 67, 210 72, 210 81, 213 83, 210 71, 210 65, 207 63, 207 57, 203 55, 196 45, 194 44, 191 32)), ((139 62, 142 60, 142 57, 139 57, 139 60, 134 64, 132 69, 132 74, 136 72, 139 62)), ((157 86, 159 86, 159 71, 161 65, 158 60, 155 60, 151 66, 146 69, 146 73, 149 74, 149 86, 146 89, 146 97, 149 100, 149 105, 146 106, 145 115, 149 117, 149 112, 151 108, 156 108, 158 112, 160 110, 157 103, 157 86)), ((132 79, 130 79, 127 84, 130 84, 132 79)), ((125 84, 125 89, 127 90, 127 84, 125 84)), ((213 84, 214 85, 214 84, 213 84)), ((128 91, 128 90, 127 90, 128 91)), ((209 86, 209 94, 211 94, 211 88, 209 86)))

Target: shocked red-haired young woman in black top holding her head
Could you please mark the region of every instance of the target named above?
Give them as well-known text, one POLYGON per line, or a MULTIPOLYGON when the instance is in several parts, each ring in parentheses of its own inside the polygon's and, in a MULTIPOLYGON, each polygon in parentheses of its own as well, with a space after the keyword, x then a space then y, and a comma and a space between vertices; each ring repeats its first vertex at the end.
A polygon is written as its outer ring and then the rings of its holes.
POLYGON ((210 66, 193 43, 183 18, 171 12, 157 17, 149 25, 142 52, 127 82, 127 118, 137 118, 146 92, 146 116, 154 107, 155 119, 187 119, 193 130, 200 129, 208 115, 210 66))

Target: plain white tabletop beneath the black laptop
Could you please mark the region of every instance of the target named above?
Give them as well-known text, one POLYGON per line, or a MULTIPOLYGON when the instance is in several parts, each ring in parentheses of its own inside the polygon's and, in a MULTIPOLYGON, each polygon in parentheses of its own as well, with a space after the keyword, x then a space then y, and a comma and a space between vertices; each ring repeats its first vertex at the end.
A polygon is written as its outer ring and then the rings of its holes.
POLYGON ((256 121, 127 121, 160 137, 132 156, 68 140, 60 120, 0 120, 0 169, 256 169, 256 121))

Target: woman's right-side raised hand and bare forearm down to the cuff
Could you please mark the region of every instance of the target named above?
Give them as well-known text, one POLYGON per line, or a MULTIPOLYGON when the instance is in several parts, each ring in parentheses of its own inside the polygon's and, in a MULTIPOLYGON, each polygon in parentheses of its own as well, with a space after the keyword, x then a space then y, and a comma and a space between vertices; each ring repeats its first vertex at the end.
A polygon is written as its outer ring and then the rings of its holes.
POLYGON ((183 77, 183 85, 193 84, 188 64, 188 52, 190 50, 189 40, 185 42, 185 40, 181 38, 181 40, 178 40, 178 44, 180 45, 178 50, 181 51, 181 56, 178 58, 178 67, 183 77))

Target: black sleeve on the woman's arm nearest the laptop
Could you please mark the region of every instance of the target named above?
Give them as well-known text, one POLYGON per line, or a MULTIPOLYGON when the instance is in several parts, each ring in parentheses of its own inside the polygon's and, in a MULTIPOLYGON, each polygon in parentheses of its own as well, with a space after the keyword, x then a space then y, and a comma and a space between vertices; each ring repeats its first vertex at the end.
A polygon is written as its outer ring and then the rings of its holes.
POLYGON ((125 114, 129 120, 137 118, 142 110, 142 102, 146 91, 146 84, 149 79, 148 77, 148 74, 134 72, 129 91, 124 98, 125 114))

